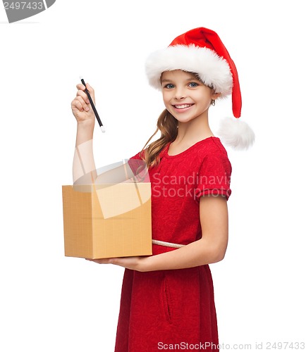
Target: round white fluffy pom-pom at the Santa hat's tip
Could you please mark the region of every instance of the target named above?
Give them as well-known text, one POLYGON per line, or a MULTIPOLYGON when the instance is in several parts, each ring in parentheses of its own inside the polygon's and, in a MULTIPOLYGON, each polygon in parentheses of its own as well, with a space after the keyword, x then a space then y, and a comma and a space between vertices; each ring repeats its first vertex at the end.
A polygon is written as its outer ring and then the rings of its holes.
POLYGON ((222 143, 237 150, 248 149, 255 142, 252 128, 240 118, 224 118, 218 134, 222 143))

